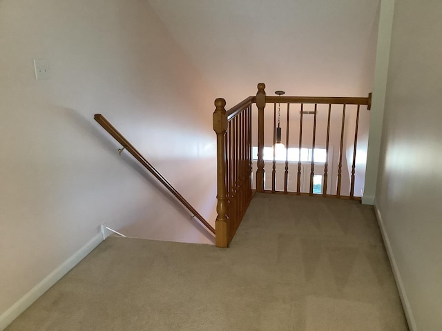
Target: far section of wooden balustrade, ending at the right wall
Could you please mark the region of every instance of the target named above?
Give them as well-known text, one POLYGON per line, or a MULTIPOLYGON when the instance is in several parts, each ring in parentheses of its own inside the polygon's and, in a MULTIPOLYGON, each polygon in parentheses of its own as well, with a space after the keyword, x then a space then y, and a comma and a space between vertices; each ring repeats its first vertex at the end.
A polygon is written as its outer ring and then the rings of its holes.
MULTIPOLYGON (((266 95, 265 90, 262 88, 263 84, 260 84, 261 88, 258 88, 258 93, 260 95, 266 95)), ((257 94, 258 98, 258 94, 257 94)), ((257 105, 258 106, 258 105, 257 105)), ((266 96, 265 103, 261 103, 260 107, 258 107, 258 164, 257 164, 257 172, 256 172, 256 190, 257 192, 267 192, 270 190, 271 192, 282 191, 284 193, 288 192, 296 192, 297 194, 309 194, 314 195, 318 194, 318 192, 314 192, 314 183, 316 181, 316 175, 320 175, 322 177, 320 181, 321 193, 323 196, 336 196, 336 197, 349 197, 351 199, 356 199, 354 194, 354 186, 355 186, 355 168, 356 168, 356 152, 357 152, 357 142, 358 142, 358 125, 359 125, 359 115, 361 112, 361 106, 367 106, 367 110, 369 110, 371 106, 371 93, 366 98, 358 98, 358 97, 282 97, 278 96, 266 96), (263 149, 264 144, 260 143, 260 141, 269 141, 270 139, 264 139, 262 137, 264 135, 264 120, 260 121, 260 109, 264 110, 266 103, 273 103, 273 127, 276 127, 276 104, 285 104, 287 108, 285 108, 285 114, 287 114, 287 118, 283 125, 286 126, 285 133, 285 160, 280 160, 277 157, 276 148, 273 148, 273 160, 272 160, 272 174, 271 174, 271 188, 265 184, 265 161, 263 158, 263 149), (291 109, 290 105, 295 105, 298 107, 299 116, 296 115, 295 119, 291 117, 291 109), (321 107, 320 107, 321 106, 321 107), (310 110, 306 110, 310 109, 310 110), (347 113, 356 112, 356 123, 352 128, 347 128, 349 123, 347 121, 347 113), (308 121, 306 116, 312 115, 311 121, 308 121), (321 114, 321 116, 320 116, 321 114), (334 116, 335 126, 332 126, 332 115, 334 116), (337 119, 339 119, 339 129, 337 128, 337 119), (319 117, 321 119, 319 119, 319 117), (291 126, 291 121, 298 122, 298 132, 296 134, 291 134, 290 130, 296 128, 295 126, 291 126), (309 123, 307 123, 307 122, 309 123), (318 123, 320 121, 320 126, 318 123), (311 128, 311 130, 309 130, 311 128), (321 143, 318 142, 318 132, 319 128, 323 129, 323 132, 320 132, 323 139, 321 143), (329 158, 329 154, 331 152, 331 134, 332 129, 334 129, 335 137, 335 145, 338 149, 337 151, 337 162, 335 164, 331 164, 332 160, 329 158), (336 130, 339 130, 338 132, 336 130), (349 132, 354 130, 354 141, 352 141, 352 160, 347 160, 345 153, 348 150, 348 146, 345 143, 349 141, 349 132), (297 134, 298 133, 298 134, 297 134), (294 138, 292 139, 291 136, 294 138), (305 142, 306 137, 307 142, 305 142), (317 147, 321 146, 323 150, 325 150, 325 161, 318 164, 315 161, 315 155, 317 152, 317 147), (324 148, 323 148, 324 147, 324 148), (293 159, 289 160, 289 148, 297 148, 298 149, 298 159, 294 161, 293 159), (309 159, 302 159, 303 149, 308 148, 309 150, 309 159), (346 149, 347 148, 347 149, 346 149), (283 187, 278 188, 276 185, 276 178, 278 178, 278 161, 282 161, 285 163, 285 167, 281 172, 281 177, 284 177, 283 187), (309 163, 309 174, 307 174, 307 163, 309 163), (345 189, 343 188, 343 173, 345 169, 343 168, 345 165, 351 164, 351 172, 349 176, 346 175, 345 181, 345 189), (289 171, 292 170, 293 167, 296 167, 297 171, 295 173, 289 171), (332 166, 332 169, 331 169, 332 166), (333 174, 331 171, 333 170, 333 174), (329 179, 330 176, 333 175, 333 188, 329 187, 329 179), (289 187, 289 179, 293 177, 293 182, 296 181, 296 188, 289 187), (307 179, 308 178, 308 179, 307 179), (304 182, 304 184, 302 184, 304 182), (347 182, 348 185, 347 185, 347 182), (263 185, 264 187, 262 187, 263 185), (336 190, 336 191, 335 191, 336 190), (343 192, 344 191, 344 192, 343 192)), ((297 114, 297 112, 295 112, 297 114)), ((262 114, 264 118, 264 114, 262 114)), ((273 129, 273 146, 276 146, 276 129, 273 129)))

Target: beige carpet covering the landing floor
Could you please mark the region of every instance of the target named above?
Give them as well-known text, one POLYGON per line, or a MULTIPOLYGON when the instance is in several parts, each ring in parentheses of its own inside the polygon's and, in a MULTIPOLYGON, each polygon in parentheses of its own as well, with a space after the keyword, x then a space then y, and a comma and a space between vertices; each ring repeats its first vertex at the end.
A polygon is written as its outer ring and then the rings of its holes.
POLYGON ((111 237, 27 330, 408 330, 372 206, 256 194, 230 248, 111 237))

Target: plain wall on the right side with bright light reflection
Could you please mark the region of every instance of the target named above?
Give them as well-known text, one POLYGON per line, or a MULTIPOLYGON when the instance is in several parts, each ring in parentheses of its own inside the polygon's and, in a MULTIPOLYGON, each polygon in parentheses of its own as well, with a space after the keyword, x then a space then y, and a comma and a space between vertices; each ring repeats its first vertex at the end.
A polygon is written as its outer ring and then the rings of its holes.
POLYGON ((412 330, 442 330, 442 2, 396 1, 376 208, 412 330))

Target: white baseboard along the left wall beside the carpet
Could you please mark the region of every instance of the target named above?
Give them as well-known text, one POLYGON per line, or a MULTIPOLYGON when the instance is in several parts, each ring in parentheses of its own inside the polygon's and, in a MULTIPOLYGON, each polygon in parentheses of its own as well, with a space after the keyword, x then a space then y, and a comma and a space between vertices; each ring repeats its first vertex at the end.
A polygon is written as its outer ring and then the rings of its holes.
POLYGON ((6 312, 0 315, 0 330, 3 331, 12 321, 14 321, 19 314, 29 308, 44 292, 57 283, 69 270, 75 267, 79 261, 84 259, 87 254, 92 252, 94 248, 103 241, 102 233, 97 234, 93 239, 90 239, 86 245, 80 248, 75 254, 69 257, 64 263, 59 265, 57 269, 52 271, 40 283, 35 285, 32 290, 26 293, 19 301, 12 305, 6 312))

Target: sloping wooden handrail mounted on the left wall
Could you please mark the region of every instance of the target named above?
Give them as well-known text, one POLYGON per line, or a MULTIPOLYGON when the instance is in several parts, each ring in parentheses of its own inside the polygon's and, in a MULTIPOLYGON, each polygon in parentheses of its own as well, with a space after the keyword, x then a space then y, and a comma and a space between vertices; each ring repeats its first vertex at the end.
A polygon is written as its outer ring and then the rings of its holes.
POLYGON ((197 212, 195 208, 193 208, 192 205, 187 202, 186 199, 184 199, 184 197, 182 197, 182 195, 177 190, 175 190, 175 188, 173 188, 171 183, 169 183, 169 181, 167 181, 163 177, 163 175, 160 174, 160 172, 158 172, 153 167, 153 165, 151 165, 151 163, 148 163, 148 161, 144 159, 142 154, 140 154, 140 152, 138 152, 135 147, 133 147, 132 144, 129 143, 129 141, 121 133, 119 133, 117 129, 115 129, 102 114, 95 114, 94 119, 99 123, 100 126, 104 128, 104 130, 111 134, 111 136, 114 137, 116 141, 121 143, 122 146, 126 148, 126 150, 131 153, 133 157, 135 157, 135 159, 137 159, 137 161, 139 161, 144 166, 144 168, 151 172, 151 174, 153 174, 153 176, 158 179, 158 181, 160 181, 160 183, 162 183, 167 188, 167 190, 169 190, 173 194, 173 196, 184 205, 184 207, 186 207, 197 219, 199 219, 201 223, 203 223, 206 228, 210 230, 210 232, 215 234, 215 229, 204 219, 204 217, 202 217, 201 214, 197 212))

